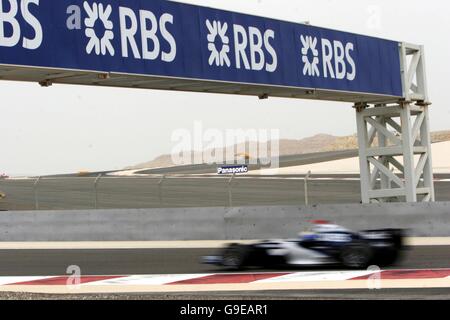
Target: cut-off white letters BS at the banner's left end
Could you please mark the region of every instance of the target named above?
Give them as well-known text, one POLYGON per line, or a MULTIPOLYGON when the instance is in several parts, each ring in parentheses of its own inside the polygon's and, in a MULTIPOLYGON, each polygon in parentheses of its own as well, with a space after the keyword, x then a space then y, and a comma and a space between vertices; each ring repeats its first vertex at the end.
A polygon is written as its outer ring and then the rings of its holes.
POLYGON ((31 8, 37 6, 39 0, 0 0, 0 47, 14 47, 20 40, 25 49, 35 50, 40 47, 43 39, 42 26, 31 13, 31 8), (20 19, 34 30, 33 37, 22 35, 20 19))

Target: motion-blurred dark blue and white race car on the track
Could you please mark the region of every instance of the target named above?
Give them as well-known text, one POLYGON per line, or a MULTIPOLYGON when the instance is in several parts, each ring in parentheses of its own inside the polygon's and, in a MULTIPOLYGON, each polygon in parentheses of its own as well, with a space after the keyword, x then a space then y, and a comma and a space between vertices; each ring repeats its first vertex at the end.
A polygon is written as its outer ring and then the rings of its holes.
POLYGON ((328 221, 313 223, 311 232, 297 239, 234 243, 217 256, 203 257, 202 262, 232 270, 322 265, 365 269, 394 264, 404 249, 405 231, 401 229, 354 232, 328 221))

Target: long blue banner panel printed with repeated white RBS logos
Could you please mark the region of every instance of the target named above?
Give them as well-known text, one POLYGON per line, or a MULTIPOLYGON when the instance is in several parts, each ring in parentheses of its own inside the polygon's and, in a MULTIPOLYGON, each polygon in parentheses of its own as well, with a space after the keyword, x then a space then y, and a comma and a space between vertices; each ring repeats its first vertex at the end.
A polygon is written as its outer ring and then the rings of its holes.
POLYGON ((398 42, 163 0, 0 0, 0 64, 401 97, 398 42))

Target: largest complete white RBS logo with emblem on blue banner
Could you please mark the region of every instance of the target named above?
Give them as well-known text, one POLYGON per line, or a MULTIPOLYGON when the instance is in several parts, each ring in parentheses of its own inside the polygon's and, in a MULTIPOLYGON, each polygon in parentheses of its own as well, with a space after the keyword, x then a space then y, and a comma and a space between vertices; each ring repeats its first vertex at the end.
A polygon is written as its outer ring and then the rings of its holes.
POLYGON ((123 58, 164 62, 172 62, 176 58, 177 43, 169 31, 174 24, 174 17, 169 13, 157 16, 152 11, 134 11, 122 6, 117 12, 113 10, 112 5, 88 1, 84 1, 83 10, 72 5, 67 8, 66 13, 69 30, 85 28, 84 33, 89 39, 86 45, 87 54, 114 57, 118 51, 114 40, 119 37, 123 58), (82 19, 82 16, 86 18, 82 19))

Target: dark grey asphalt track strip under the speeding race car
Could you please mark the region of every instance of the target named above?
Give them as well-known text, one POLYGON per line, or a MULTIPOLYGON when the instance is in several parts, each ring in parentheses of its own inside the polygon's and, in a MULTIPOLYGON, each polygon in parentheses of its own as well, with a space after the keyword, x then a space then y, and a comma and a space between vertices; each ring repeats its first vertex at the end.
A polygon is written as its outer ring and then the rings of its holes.
MULTIPOLYGON (((71 265, 79 266, 83 275, 223 272, 223 269, 200 264, 201 256, 215 253, 217 249, 0 250, 0 276, 60 276, 65 275, 71 265)), ((450 246, 411 247, 404 258, 390 268, 450 268, 450 246)), ((308 271, 289 271, 304 270, 308 271)), ((258 269, 258 272, 265 271, 269 270, 258 269)))

